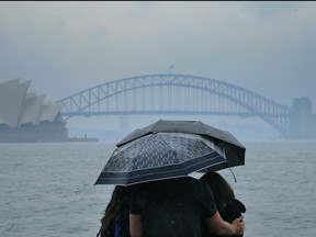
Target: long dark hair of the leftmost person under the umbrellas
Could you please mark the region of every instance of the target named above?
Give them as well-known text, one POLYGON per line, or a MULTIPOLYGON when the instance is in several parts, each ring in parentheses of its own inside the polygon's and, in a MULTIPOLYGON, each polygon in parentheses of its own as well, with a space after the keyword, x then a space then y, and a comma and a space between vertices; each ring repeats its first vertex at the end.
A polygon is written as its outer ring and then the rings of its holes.
POLYGON ((101 227, 99 230, 99 235, 105 236, 105 230, 109 228, 116 215, 122 213, 124 210, 128 210, 129 193, 129 188, 115 185, 112 192, 111 200, 104 211, 104 215, 101 218, 101 227))

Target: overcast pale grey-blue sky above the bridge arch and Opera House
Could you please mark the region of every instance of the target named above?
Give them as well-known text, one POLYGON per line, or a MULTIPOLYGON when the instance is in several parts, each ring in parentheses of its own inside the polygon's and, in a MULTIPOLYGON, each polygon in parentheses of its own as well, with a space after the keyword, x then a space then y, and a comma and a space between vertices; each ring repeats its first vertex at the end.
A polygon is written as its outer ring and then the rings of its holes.
POLYGON ((315 42, 314 1, 1 1, 0 83, 54 101, 174 65, 316 113, 315 42))

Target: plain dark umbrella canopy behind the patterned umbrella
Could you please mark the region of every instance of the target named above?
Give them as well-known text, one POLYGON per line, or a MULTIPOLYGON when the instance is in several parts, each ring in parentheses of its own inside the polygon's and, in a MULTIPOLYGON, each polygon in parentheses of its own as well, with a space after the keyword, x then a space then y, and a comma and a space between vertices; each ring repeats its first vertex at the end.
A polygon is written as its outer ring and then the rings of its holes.
MULTIPOLYGON (((135 129, 123 138, 116 146, 120 147, 139 137, 153 133, 189 133, 204 135, 225 150, 227 162, 210 167, 207 170, 217 171, 225 168, 244 166, 246 148, 229 132, 210 126, 201 121, 168 121, 159 120, 146 127, 135 129)), ((206 170, 202 170, 203 172, 206 170)))

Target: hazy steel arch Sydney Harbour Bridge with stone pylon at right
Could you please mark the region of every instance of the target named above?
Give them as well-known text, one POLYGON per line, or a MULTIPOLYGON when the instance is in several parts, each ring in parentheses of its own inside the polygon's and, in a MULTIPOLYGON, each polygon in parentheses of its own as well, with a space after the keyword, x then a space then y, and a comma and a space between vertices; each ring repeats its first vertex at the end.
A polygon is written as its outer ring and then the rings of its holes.
POLYGON ((316 116, 308 97, 292 106, 206 77, 159 74, 131 77, 99 84, 59 102, 61 115, 224 115, 259 117, 284 138, 316 138, 316 116))

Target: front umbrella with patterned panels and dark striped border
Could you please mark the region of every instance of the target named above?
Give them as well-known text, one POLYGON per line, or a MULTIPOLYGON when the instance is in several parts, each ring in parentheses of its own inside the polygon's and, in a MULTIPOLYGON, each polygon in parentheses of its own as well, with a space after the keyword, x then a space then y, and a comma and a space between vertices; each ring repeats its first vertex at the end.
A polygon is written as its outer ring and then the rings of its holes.
POLYGON ((188 133, 150 133, 119 146, 94 184, 129 185, 185 177, 226 162, 212 140, 188 133))

